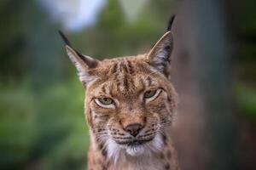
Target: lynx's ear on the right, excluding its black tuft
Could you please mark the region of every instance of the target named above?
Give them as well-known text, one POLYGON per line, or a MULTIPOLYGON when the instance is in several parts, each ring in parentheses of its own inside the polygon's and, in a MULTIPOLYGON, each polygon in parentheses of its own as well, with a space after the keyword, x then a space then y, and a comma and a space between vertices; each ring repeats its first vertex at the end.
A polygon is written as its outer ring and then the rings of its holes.
POLYGON ((148 63, 168 78, 170 77, 172 48, 172 32, 167 31, 147 55, 148 63))

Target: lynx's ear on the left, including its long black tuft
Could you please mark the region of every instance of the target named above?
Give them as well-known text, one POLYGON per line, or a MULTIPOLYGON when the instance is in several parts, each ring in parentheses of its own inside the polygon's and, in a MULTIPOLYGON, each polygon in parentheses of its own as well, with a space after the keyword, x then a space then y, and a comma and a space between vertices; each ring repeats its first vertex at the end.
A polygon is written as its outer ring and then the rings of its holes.
POLYGON ((67 55, 72 60, 73 64, 76 66, 79 72, 80 81, 83 82, 84 85, 87 85, 89 82, 95 79, 95 77, 90 75, 89 71, 90 69, 96 68, 99 61, 97 59, 92 59, 89 56, 79 54, 79 52, 71 47, 70 42, 67 40, 67 37, 65 37, 61 31, 59 31, 59 33, 64 42, 66 43, 65 48, 67 50, 67 55))

